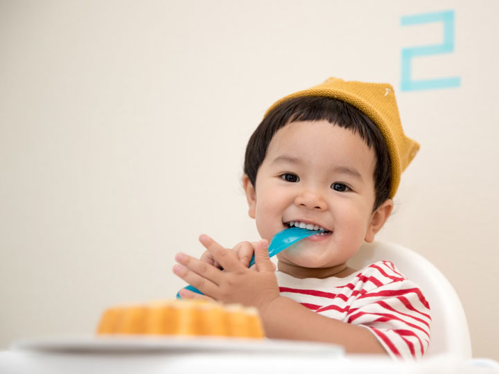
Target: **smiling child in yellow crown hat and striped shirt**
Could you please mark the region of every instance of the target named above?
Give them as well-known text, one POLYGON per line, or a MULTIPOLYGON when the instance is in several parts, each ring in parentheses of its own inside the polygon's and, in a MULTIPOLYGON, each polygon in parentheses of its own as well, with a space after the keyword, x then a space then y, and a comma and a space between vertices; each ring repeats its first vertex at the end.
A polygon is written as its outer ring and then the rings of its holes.
POLYGON ((330 78, 279 100, 245 156, 249 216, 263 240, 232 251, 201 235, 207 253, 201 260, 178 253, 173 271, 206 296, 180 295, 252 305, 270 338, 421 357, 431 319, 419 287, 391 262, 347 265, 385 224, 401 172, 418 150, 403 134, 389 84, 330 78), (274 271, 268 243, 290 226, 326 231, 279 253, 274 271), (253 252, 256 269, 247 269, 253 252))

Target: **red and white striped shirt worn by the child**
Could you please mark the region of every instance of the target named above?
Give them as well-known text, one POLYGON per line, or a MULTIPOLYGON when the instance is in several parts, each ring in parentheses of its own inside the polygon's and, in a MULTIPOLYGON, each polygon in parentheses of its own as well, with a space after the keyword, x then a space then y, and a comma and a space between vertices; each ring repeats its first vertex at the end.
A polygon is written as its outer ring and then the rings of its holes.
POLYGON ((389 261, 345 278, 298 279, 276 271, 282 296, 326 317, 369 328, 390 356, 417 359, 430 341, 430 305, 389 261))

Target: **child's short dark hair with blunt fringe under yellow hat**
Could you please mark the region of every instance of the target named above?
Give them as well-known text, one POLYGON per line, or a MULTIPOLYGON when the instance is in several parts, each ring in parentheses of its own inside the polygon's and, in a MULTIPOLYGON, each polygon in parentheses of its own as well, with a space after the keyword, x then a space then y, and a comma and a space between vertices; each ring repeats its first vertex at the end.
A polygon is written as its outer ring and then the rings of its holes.
POLYGON ((299 121, 323 121, 358 133, 367 146, 374 149, 374 210, 389 197, 392 167, 385 139, 376 124, 366 114, 349 103, 323 96, 293 98, 274 107, 256 127, 246 147, 244 172, 256 186, 258 172, 274 134, 281 127, 299 121))

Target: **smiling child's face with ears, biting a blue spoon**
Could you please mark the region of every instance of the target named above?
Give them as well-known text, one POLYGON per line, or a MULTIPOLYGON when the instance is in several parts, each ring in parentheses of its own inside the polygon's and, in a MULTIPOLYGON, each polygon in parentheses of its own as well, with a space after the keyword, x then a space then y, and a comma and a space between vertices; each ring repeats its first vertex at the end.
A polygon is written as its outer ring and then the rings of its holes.
POLYGON ((327 121, 290 123, 274 134, 256 188, 245 177, 249 215, 261 237, 270 242, 292 221, 329 231, 281 252, 280 263, 337 267, 374 239, 387 218, 372 211, 375 166, 374 150, 358 134, 327 121))

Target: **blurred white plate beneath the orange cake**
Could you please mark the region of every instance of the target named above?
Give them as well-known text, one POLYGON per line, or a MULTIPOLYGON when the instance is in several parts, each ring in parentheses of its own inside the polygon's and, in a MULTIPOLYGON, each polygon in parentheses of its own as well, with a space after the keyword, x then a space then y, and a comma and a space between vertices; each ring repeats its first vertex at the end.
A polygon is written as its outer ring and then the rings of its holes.
POLYGON ((334 344, 216 337, 52 337, 18 341, 13 350, 57 353, 270 353, 340 357, 334 344))

